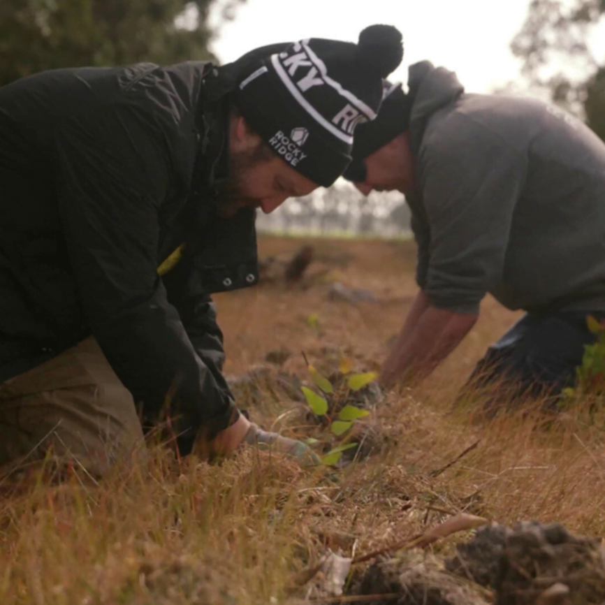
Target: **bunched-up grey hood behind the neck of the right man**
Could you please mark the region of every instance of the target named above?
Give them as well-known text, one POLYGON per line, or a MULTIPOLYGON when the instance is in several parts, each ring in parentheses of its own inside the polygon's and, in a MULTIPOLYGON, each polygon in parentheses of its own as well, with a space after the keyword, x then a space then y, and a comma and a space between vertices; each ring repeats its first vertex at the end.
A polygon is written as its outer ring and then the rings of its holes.
POLYGON ((410 140, 412 151, 418 152, 428 119, 449 105, 465 91, 460 80, 444 67, 435 67, 430 61, 420 61, 409 67, 411 97, 410 140))

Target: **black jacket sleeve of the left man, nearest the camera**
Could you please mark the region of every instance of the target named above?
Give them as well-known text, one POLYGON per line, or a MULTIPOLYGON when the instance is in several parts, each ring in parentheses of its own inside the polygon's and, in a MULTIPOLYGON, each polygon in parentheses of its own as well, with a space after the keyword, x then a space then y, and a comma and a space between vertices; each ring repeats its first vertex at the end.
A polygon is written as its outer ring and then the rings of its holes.
POLYGON ((159 212, 171 155, 154 112, 108 108, 57 135, 59 212, 92 334, 155 421, 170 400, 181 452, 226 428, 233 402, 198 356, 157 274, 159 212))

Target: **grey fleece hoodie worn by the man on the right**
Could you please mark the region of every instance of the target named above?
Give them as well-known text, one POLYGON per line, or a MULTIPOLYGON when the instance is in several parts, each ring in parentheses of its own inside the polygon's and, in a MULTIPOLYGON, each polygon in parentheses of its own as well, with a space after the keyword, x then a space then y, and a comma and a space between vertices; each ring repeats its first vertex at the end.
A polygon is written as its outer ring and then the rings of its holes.
POLYGON ((605 144, 534 99, 465 94, 410 68, 417 281, 432 304, 476 313, 605 310, 605 144))

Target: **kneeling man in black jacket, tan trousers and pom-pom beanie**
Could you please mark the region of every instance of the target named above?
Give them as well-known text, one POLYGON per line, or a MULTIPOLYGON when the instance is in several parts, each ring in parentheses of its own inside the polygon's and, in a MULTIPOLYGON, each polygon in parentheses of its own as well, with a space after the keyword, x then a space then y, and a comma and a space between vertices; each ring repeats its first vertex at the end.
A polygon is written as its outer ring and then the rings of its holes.
POLYGON ((103 474, 160 421, 180 455, 310 458, 235 407, 210 295, 256 284, 256 209, 342 174, 401 58, 372 26, 0 89, 0 464, 103 474))

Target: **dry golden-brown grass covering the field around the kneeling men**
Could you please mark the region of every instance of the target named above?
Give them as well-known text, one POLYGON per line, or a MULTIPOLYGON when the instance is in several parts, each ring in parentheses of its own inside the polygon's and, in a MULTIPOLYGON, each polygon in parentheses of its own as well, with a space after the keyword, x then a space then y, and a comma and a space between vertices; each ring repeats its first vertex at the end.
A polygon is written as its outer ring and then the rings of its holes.
MULTIPOLYGON (((263 240, 261 253, 302 244, 263 240)), ((278 347, 295 353, 284 369, 301 376, 301 350, 316 362, 342 351, 364 368, 384 356, 416 290, 413 245, 321 240, 316 246, 353 254, 336 277, 384 302, 330 302, 323 286, 221 295, 227 372, 243 372, 278 347), (317 328, 307 325, 312 313, 319 314, 317 328)), ((61 486, 39 475, 24 476, 11 493, 2 486, 0 603, 300 602, 305 588, 293 578, 319 560, 326 542, 350 549, 351 534, 363 554, 418 534, 442 520, 443 511, 500 523, 558 520, 574 531, 605 534, 598 424, 569 414, 548 430, 531 416, 481 425, 468 410, 451 412, 474 362, 514 319, 491 300, 483 307, 472 334, 435 377, 414 391, 391 393, 374 414, 396 442, 390 451, 336 478, 266 453, 248 451, 209 466, 157 450, 148 468, 116 472, 100 485, 74 472, 61 486), (455 465, 431 473, 478 440, 455 465)), ((283 409, 267 404, 251 411, 268 425, 283 409)), ((288 430, 287 418, 279 426, 288 430)))

